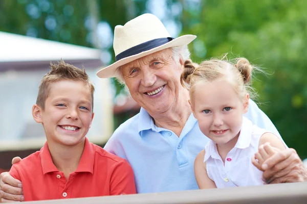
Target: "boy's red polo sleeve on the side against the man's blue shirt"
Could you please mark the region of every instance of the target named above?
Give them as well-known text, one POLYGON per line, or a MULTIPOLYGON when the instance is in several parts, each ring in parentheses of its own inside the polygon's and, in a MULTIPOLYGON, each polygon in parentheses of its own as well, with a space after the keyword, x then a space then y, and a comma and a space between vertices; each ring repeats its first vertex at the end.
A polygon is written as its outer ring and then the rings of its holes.
POLYGON ((136 193, 136 184, 133 170, 126 160, 120 161, 112 173, 110 195, 134 193, 136 193))

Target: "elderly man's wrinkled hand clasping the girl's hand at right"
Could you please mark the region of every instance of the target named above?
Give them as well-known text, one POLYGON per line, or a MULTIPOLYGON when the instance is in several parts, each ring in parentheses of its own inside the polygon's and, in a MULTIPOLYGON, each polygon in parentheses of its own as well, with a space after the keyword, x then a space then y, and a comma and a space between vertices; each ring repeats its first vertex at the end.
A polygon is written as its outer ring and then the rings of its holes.
MULTIPOLYGON (((271 155, 275 151, 269 144, 264 145, 264 150, 267 155, 271 155)), ((254 164, 254 161, 252 162, 254 164)), ((259 167, 257 164, 255 166, 259 167)), ((275 152, 258 169, 264 171, 262 179, 267 184, 307 181, 307 169, 292 148, 275 152)))

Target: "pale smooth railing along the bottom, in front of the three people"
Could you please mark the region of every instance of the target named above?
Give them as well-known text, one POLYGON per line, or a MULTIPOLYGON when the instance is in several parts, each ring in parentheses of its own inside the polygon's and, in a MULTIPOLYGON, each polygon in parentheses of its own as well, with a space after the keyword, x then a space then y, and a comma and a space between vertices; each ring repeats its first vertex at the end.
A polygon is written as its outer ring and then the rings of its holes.
MULTIPOLYGON (((31 203, 31 202, 30 202, 31 203)), ((192 190, 167 193, 148 193, 102 196, 61 200, 34 201, 32 203, 90 203, 90 204, 160 204, 160 203, 250 203, 296 204, 307 203, 307 182, 272 184, 254 187, 192 190)))

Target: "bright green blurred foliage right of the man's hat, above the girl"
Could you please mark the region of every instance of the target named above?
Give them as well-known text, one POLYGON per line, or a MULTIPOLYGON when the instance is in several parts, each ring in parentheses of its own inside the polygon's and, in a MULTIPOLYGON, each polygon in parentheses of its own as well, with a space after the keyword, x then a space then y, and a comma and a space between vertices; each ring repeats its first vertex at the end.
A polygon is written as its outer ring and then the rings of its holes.
POLYGON ((213 0, 202 1, 201 8, 199 16, 183 13, 183 33, 198 36, 190 46, 193 60, 232 52, 265 67, 271 74, 257 74, 253 84, 260 108, 286 143, 307 158, 307 2, 213 0), (189 24, 193 18, 197 23, 189 24))

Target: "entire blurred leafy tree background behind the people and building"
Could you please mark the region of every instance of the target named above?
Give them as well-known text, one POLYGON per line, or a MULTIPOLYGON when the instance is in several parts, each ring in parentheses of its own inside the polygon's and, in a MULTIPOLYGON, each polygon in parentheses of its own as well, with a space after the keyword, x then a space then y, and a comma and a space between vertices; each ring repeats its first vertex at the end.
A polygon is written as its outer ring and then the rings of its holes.
MULTIPOLYGON (((300 0, 0 0, 0 31, 100 48, 101 60, 109 64, 115 25, 153 13, 173 37, 198 36, 189 45, 195 62, 231 52, 264 67, 269 74, 257 74, 253 84, 259 107, 303 159, 306 10, 307 1, 300 0)), ((113 84, 117 95, 125 94, 113 84)), ((130 116, 115 117, 116 126, 130 116)))

